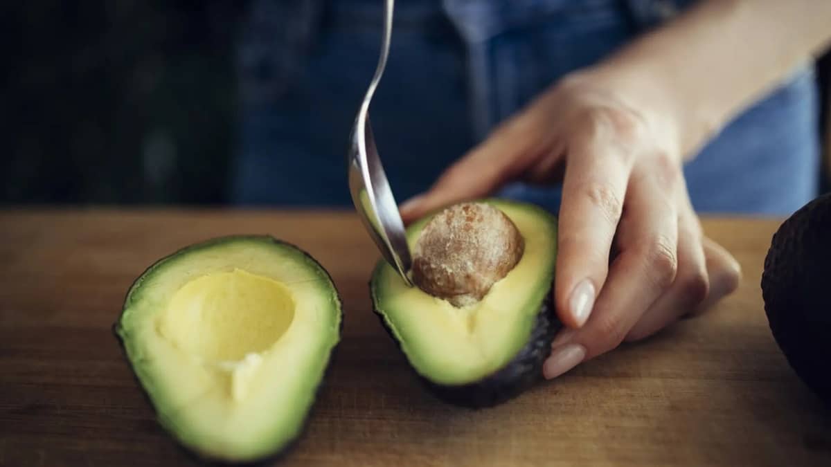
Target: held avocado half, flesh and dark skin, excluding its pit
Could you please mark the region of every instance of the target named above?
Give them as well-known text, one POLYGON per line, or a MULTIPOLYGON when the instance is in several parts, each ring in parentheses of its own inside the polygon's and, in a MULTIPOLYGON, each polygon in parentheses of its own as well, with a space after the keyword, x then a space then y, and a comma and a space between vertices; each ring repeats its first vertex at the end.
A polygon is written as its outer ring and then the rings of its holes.
MULTIPOLYGON (((454 307, 409 287, 383 260, 370 282, 374 312, 420 381, 441 400, 485 407, 508 401, 542 376, 562 327, 552 305, 557 221, 534 204, 484 199, 524 238, 519 263, 481 301, 454 307)), ((414 248, 433 214, 407 229, 414 248)))

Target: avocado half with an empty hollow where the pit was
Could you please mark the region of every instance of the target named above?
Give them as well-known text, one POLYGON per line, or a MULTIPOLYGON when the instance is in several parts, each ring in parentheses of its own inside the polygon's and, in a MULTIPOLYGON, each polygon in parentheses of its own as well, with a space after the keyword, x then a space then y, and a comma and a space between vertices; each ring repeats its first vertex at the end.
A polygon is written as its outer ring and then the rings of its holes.
POLYGON ((162 258, 114 326, 160 425, 196 457, 226 463, 273 459, 302 434, 341 330, 326 270, 267 236, 162 258))

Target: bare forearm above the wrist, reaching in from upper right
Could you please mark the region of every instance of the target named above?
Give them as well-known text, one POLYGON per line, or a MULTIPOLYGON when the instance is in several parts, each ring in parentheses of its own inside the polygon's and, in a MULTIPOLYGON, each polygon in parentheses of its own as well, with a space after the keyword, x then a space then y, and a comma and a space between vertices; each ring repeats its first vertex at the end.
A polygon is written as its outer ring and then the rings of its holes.
POLYGON ((689 157, 831 42, 828 0, 705 0, 593 72, 671 120, 689 157))

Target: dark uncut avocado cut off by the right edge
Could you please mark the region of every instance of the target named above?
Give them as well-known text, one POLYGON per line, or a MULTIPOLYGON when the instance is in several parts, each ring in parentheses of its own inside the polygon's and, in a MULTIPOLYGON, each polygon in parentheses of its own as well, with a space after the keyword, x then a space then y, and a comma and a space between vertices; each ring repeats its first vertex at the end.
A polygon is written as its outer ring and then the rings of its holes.
POLYGON ((765 256, 761 288, 770 330, 789 365, 831 404, 831 194, 779 226, 765 256))

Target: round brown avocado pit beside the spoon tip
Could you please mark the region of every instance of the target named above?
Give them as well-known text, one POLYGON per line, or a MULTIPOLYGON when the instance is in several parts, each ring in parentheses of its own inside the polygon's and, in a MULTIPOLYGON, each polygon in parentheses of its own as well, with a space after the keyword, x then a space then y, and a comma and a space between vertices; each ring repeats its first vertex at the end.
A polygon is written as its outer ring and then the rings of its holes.
POLYGON ((422 230, 413 251, 412 280, 455 307, 479 302, 519 263, 524 239, 514 222, 486 203, 443 209, 422 230))

